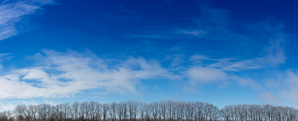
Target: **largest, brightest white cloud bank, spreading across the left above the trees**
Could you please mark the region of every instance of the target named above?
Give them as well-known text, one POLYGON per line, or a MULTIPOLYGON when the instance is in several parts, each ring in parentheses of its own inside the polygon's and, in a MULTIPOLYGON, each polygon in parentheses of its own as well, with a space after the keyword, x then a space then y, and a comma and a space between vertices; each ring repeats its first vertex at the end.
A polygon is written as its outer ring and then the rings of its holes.
POLYGON ((174 78, 157 61, 142 57, 109 65, 89 51, 43 50, 33 58, 37 60, 36 66, 0 76, 0 99, 69 97, 93 88, 137 94, 136 86, 142 79, 174 78))

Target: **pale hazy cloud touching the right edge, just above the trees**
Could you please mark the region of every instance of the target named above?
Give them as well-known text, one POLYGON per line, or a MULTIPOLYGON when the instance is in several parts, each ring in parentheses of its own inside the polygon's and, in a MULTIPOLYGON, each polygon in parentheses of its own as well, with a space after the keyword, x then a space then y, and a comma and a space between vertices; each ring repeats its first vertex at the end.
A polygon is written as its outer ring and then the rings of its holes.
POLYGON ((261 86, 254 80, 250 83, 245 81, 240 81, 240 83, 247 86, 251 85, 254 89, 263 91, 259 97, 264 103, 298 105, 298 71, 289 69, 284 72, 274 72, 272 75, 272 77, 264 80, 265 86, 261 86))

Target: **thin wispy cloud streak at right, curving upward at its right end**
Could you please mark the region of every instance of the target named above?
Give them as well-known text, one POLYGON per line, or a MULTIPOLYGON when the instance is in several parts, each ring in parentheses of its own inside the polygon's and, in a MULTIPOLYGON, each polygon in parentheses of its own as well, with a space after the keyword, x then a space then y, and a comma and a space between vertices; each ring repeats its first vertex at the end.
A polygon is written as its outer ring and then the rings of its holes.
POLYGON ((224 71, 245 71, 276 67, 280 64, 283 64, 286 60, 284 49, 281 47, 283 41, 284 38, 278 36, 276 40, 270 41, 269 46, 266 47, 267 55, 251 59, 244 59, 243 61, 237 61, 239 60, 238 58, 215 59, 199 54, 190 56, 189 61, 195 64, 207 66, 209 68, 217 68, 224 71), (208 63, 204 63, 206 60, 208 63))

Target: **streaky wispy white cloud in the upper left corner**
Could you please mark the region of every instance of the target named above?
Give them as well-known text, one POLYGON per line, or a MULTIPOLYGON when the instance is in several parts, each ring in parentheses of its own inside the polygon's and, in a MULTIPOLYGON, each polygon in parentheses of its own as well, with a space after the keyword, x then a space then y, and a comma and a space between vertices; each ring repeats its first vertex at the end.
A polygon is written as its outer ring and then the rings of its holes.
POLYGON ((0 4, 0 40, 17 35, 15 26, 22 17, 34 13, 42 6, 53 4, 52 0, 4 1, 0 4))

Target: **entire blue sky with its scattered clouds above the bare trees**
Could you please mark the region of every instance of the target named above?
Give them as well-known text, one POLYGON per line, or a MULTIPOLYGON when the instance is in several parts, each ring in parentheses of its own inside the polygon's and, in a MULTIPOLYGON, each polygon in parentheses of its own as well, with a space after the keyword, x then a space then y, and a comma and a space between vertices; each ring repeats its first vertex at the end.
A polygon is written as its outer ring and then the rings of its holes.
POLYGON ((297 1, 1 1, 0 110, 185 100, 298 106, 297 1))

